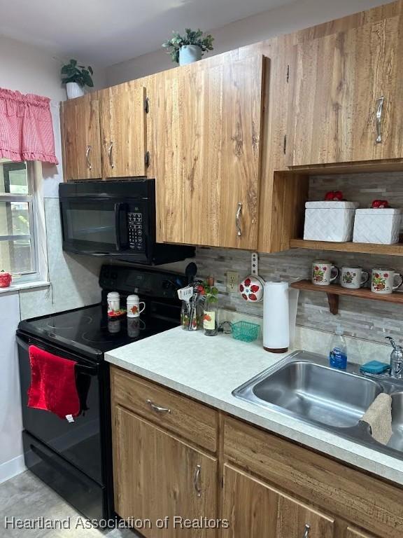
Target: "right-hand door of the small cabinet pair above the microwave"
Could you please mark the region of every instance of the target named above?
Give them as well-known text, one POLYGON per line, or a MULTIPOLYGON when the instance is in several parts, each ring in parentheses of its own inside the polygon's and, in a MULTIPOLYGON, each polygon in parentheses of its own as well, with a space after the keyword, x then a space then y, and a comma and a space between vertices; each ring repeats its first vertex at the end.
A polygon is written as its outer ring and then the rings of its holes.
POLYGON ((99 92, 104 177, 146 175, 146 89, 138 81, 99 92))

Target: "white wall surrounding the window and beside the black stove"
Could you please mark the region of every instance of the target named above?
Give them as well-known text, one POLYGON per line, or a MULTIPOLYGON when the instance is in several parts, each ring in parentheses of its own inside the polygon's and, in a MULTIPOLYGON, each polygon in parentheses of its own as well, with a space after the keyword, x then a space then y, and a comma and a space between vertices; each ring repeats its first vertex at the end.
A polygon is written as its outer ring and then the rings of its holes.
MULTIPOLYGON (((77 308, 99 300, 99 262, 67 256, 61 249, 57 211, 57 186, 62 181, 59 101, 66 99, 60 83, 63 60, 46 50, 0 36, 0 87, 50 97, 55 149, 59 165, 43 164, 43 196, 48 234, 50 282, 55 289, 0 294, 0 483, 24 469, 22 457, 20 391, 15 330, 23 317, 77 308)), ((104 71, 94 67, 97 88, 104 71)), ((1 260, 0 260, 1 265, 1 260)), ((1 267, 0 267, 1 269, 1 267)))

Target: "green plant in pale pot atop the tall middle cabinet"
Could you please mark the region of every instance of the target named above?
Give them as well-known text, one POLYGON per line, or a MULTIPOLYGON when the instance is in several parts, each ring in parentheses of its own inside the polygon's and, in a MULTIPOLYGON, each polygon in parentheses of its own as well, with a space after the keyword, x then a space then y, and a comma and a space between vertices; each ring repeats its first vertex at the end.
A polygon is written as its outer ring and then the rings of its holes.
POLYGON ((201 60, 206 50, 213 50, 213 36, 204 34, 200 28, 197 30, 185 28, 184 36, 181 36, 179 32, 172 33, 174 36, 162 43, 162 46, 168 49, 167 52, 171 55, 172 61, 179 65, 197 62, 201 60))

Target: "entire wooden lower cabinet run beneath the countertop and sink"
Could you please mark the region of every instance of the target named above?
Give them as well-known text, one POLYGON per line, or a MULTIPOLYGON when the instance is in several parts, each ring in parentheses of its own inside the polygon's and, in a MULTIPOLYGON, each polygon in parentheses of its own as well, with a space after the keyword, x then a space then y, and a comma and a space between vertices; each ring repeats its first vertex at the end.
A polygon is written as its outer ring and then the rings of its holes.
POLYGON ((403 537, 397 485, 115 366, 111 399, 115 511, 146 538, 403 537))

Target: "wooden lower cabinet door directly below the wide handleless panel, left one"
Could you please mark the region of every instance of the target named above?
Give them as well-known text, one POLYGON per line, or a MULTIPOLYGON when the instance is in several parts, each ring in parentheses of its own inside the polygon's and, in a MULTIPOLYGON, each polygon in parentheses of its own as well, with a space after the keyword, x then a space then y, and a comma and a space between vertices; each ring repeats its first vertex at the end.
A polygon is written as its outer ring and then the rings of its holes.
POLYGON ((224 518, 231 538, 333 538, 334 520, 272 489, 239 469, 224 466, 224 518))

